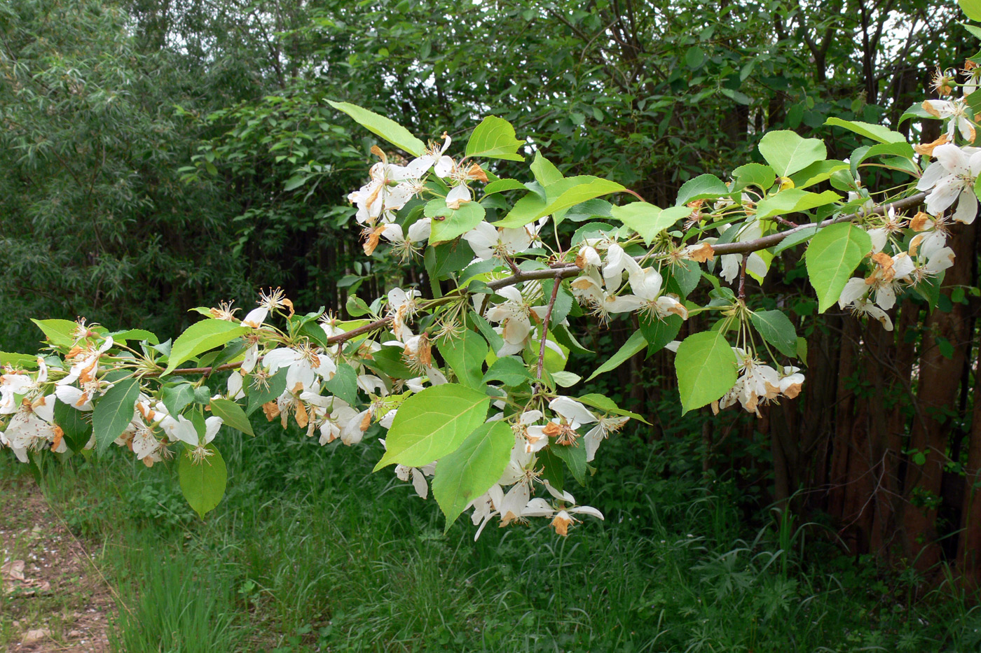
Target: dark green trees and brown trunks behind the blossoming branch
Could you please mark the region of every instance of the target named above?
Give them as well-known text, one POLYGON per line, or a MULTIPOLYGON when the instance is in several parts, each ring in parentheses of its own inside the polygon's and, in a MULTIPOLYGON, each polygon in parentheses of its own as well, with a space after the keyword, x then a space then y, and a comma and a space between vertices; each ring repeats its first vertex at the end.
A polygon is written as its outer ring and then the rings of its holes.
MULTIPOLYGON (((823 126, 828 115, 932 140, 930 124, 898 121, 933 65, 974 54, 955 6, 844 5, 6 3, 0 349, 31 349, 31 317, 166 333, 192 306, 249 306, 259 284, 339 311, 351 292, 418 282, 381 254, 355 262, 345 195, 375 141, 328 99, 432 138, 464 136, 494 113, 564 173, 602 171, 660 206, 692 176, 746 163, 769 129, 822 137, 839 159, 860 143, 823 126)), ((873 188, 901 180, 891 175, 863 169, 873 188)), ((654 418, 633 432, 651 456, 670 455, 645 478, 731 483, 750 521, 789 508, 853 555, 933 578, 952 562, 976 581, 975 232, 959 234, 938 311, 927 319, 926 302, 907 296, 894 333, 834 311, 818 318, 802 262, 782 263, 752 301, 808 320, 810 373, 798 400, 761 421, 681 419, 667 358, 637 356, 599 377, 654 418)), ((583 338, 593 367, 635 328, 583 338)))

